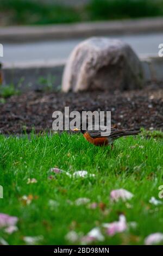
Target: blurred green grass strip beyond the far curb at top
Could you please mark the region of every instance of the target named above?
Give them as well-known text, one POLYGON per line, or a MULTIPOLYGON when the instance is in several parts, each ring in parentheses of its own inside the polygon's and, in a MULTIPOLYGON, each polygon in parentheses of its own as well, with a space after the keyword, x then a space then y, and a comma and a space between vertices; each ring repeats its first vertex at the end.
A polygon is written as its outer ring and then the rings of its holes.
POLYGON ((39 0, 0 0, 0 11, 2 25, 44 25, 162 16, 163 1, 91 0, 83 7, 68 7, 39 0))

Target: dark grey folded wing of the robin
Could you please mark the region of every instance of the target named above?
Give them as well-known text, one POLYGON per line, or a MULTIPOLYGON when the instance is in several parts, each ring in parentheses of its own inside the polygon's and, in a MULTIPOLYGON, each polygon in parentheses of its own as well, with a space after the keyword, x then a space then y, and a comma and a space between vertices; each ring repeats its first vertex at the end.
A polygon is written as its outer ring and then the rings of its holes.
POLYGON ((111 128, 111 131, 110 131, 110 129, 106 126, 99 127, 97 125, 90 126, 88 127, 88 130, 87 130, 87 132, 89 132, 89 135, 92 138, 109 137, 117 131, 120 131, 120 130, 111 128))

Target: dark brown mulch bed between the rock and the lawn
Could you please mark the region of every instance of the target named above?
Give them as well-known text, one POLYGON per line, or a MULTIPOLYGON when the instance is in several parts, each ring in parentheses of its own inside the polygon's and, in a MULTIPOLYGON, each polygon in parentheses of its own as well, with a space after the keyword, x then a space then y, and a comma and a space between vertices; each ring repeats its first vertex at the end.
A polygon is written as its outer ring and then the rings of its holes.
POLYGON ((0 103, 0 133, 52 129, 52 113, 63 111, 111 111, 112 126, 118 129, 163 130, 163 87, 147 86, 130 92, 40 93, 12 96, 0 103))

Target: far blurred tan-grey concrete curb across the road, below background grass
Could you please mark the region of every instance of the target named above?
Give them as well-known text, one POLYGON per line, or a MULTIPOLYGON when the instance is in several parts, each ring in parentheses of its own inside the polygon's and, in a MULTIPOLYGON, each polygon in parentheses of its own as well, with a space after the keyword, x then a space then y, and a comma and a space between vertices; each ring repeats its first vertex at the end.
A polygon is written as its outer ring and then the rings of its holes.
POLYGON ((90 36, 137 34, 163 31, 163 18, 74 23, 70 25, 0 28, 1 43, 85 38, 90 36))

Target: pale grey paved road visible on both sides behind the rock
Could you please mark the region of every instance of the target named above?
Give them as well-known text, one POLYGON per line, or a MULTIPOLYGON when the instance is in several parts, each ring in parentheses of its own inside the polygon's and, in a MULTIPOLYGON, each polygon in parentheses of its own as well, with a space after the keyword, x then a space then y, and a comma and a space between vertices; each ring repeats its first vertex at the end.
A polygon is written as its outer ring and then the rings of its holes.
MULTIPOLYGON (((111 38, 121 39, 133 47, 139 56, 158 54, 158 46, 163 43, 163 33, 145 35, 118 35, 111 38)), ((35 42, 28 44, 4 44, 3 63, 29 62, 33 60, 67 59, 82 39, 35 42)))

